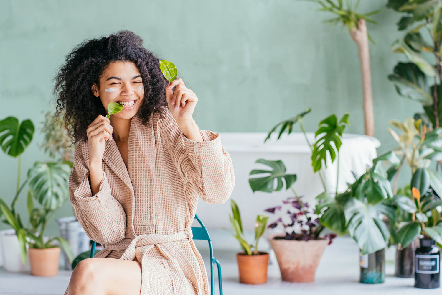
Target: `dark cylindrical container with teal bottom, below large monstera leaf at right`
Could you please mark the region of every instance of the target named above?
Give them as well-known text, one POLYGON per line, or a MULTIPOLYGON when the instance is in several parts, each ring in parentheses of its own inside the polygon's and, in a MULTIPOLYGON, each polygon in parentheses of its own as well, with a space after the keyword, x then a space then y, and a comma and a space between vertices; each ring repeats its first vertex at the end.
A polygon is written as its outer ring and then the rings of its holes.
POLYGON ((359 282, 380 284, 385 282, 385 248, 375 253, 359 255, 361 274, 359 282))

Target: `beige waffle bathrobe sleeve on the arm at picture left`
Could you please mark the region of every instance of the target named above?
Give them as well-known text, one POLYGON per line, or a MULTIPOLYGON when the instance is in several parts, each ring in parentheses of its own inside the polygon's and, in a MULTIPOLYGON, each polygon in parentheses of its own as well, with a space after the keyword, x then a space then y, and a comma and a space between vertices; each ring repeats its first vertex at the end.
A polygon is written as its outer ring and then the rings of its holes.
POLYGON ((89 238, 100 244, 120 241, 126 232, 126 213, 112 196, 104 171, 99 191, 92 195, 89 168, 81 148, 83 144, 80 142, 75 149, 74 165, 69 176, 69 200, 89 238))

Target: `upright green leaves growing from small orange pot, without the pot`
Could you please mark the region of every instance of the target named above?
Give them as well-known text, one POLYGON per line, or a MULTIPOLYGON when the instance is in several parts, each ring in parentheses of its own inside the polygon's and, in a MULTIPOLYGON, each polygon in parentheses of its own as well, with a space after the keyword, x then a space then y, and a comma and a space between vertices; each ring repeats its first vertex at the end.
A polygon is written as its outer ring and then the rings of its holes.
POLYGON ((230 223, 234 231, 233 236, 240 242, 241 248, 247 255, 258 255, 258 242, 266 229, 268 217, 265 215, 258 215, 255 222, 255 239, 252 244, 246 241, 243 225, 241 222, 241 214, 238 205, 232 199, 230 201, 232 207, 232 215, 229 215, 230 223), (253 249, 253 250, 252 250, 253 249))

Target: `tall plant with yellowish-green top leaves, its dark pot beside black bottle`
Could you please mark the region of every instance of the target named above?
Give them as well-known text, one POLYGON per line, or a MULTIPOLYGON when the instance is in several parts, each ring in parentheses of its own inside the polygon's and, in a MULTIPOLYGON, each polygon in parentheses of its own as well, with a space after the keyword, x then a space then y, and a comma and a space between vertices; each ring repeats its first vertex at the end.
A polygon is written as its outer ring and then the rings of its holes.
POLYGON ((436 128, 431 130, 430 127, 422 123, 422 119, 405 119, 404 123, 397 120, 391 120, 390 125, 396 127, 402 132, 397 134, 391 128, 388 128, 389 133, 398 143, 398 147, 393 150, 393 152, 400 157, 400 163, 397 168, 391 170, 394 173, 393 181, 393 194, 395 196, 394 204, 396 205, 395 210, 395 220, 392 224, 392 236, 391 243, 397 246, 396 249, 396 261, 395 261, 395 276, 398 277, 413 277, 414 276, 414 261, 415 261, 415 249, 419 246, 419 239, 415 239, 407 246, 404 246, 400 239, 401 237, 396 236, 396 232, 401 224, 404 222, 411 221, 412 207, 409 203, 411 202, 412 193, 410 185, 404 189, 397 189, 397 181, 402 172, 404 165, 408 165, 412 174, 416 171, 423 171, 423 177, 425 176, 426 181, 430 185, 430 189, 438 190, 439 194, 442 194, 442 187, 439 178, 434 174, 434 172, 429 169, 431 162, 437 163, 441 158, 442 153, 440 149, 442 148, 442 141, 440 134, 442 129, 436 128), (421 170, 423 169, 423 170, 421 170))

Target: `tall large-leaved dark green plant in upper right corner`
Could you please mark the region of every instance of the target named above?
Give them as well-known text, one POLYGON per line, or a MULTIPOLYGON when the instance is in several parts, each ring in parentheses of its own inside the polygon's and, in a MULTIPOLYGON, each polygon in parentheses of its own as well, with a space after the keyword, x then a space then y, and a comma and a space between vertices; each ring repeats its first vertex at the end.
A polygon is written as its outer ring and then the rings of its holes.
POLYGON ((400 96, 422 103, 424 112, 415 118, 437 128, 442 122, 441 2, 389 0, 387 7, 403 14, 397 27, 405 34, 392 44, 392 50, 409 60, 399 62, 389 80, 400 96))

